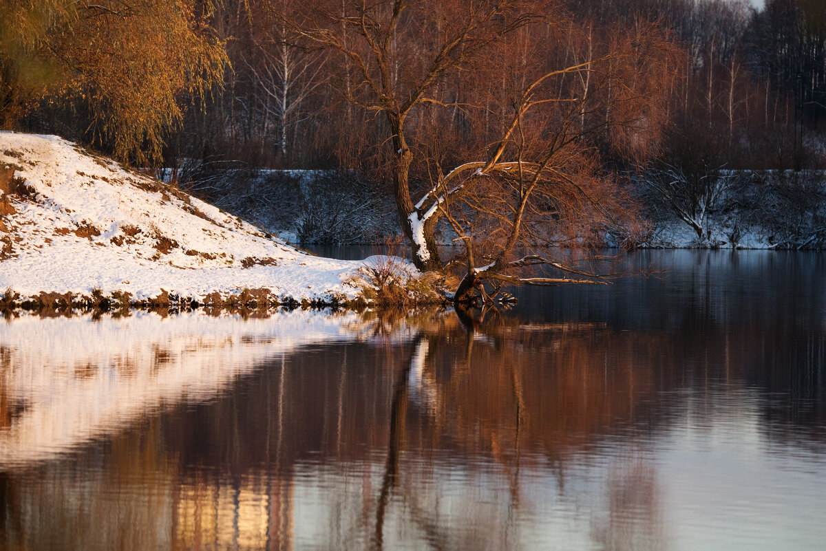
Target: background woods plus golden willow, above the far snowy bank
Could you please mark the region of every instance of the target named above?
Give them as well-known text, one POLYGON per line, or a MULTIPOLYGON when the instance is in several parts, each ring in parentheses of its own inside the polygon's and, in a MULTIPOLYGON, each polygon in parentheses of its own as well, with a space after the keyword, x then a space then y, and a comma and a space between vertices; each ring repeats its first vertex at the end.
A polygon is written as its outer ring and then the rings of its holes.
MULTIPOLYGON (((361 82, 358 68, 313 47, 278 15, 315 7, 335 15, 332 8, 345 13, 350 2, 324 3, 4 0, 0 124, 59 131, 133 161, 165 143, 166 164, 187 156, 337 166, 354 153, 346 151, 350 138, 363 134, 353 126, 356 107, 342 101, 361 82)), ((425 2, 434 3, 443 2, 425 2)), ((747 0, 519 4, 553 18, 556 40, 569 42, 572 59, 643 21, 668 31, 686 52, 669 83, 669 151, 689 142, 729 166, 816 162, 815 136, 826 120, 823 2, 768 0, 759 12, 747 0)), ((425 12, 434 23, 437 14, 425 12)), ((417 31, 415 42, 392 46, 425 59, 416 48, 434 39, 428 35, 438 24, 423 22, 417 31)), ((471 77, 463 74, 465 88, 475 85, 471 77)), ((460 107, 443 121, 451 132, 467 124, 460 107)), ((140 160, 161 162, 157 155, 140 160)))

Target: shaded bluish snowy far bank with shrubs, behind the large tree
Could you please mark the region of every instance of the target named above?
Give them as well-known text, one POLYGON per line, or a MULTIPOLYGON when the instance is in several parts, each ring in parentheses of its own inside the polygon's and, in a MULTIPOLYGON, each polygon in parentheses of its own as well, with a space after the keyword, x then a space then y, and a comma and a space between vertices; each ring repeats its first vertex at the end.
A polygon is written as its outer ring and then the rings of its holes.
MULTIPOLYGON (((393 198, 354 174, 237 164, 183 159, 159 175, 290 243, 364 245, 401 231, 393 198)), ((630 179, 651 222, 640 247, 826 247, 824 171, 651 169, 630 179)))

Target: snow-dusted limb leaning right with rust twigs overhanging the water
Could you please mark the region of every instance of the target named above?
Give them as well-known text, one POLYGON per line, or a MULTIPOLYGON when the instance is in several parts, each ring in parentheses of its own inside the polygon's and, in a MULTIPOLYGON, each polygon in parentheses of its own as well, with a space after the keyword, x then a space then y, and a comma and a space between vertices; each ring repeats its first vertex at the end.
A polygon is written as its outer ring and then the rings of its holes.
POLYGON ((461 266, 456 299, 619 275, 593 266, 606 260, 598 250, 638 243, 647 226, 598 148, 644 158, 655 147, 676 49, 650 26, 596 40, 591 29, 542 21, 493 51, 520 66, 500 69, 512 84, 491 145, 446 174, 433 159, 432 187, 417 205, 463 245, 450 259, 461 266))

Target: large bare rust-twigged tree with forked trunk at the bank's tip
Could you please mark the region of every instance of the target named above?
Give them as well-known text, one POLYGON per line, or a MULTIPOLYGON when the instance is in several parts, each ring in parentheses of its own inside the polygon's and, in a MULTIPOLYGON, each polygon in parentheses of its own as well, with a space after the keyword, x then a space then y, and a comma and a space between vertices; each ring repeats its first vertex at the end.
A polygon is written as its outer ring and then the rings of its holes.
POLYGON ((653 27, 595 35, 553 0, 312 0, 280 17, 347 68, 338 92, 391 167, 413 261, 461 270, 457 300, 486 282, 602 280, 568 252, 643 226, 600 158, 656 139, 677 54, 653 27), (539 265, 567 275, 525 276, 539 265))

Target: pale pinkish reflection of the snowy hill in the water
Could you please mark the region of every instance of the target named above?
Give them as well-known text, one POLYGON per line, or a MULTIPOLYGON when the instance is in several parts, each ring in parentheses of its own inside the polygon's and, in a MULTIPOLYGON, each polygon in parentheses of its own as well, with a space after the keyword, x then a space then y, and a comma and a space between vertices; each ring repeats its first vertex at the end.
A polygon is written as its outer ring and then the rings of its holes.
POLYGON ((215 398, 262 360, 358 338, 355 313, 296 310, 241 320, 20 318, 0 331, 0 468, 50 459, 164 404, 215 398), (355 330, 355 331, 354 331, 355 330))

